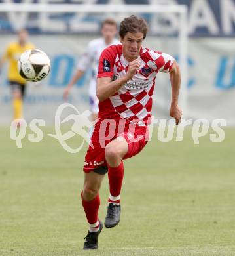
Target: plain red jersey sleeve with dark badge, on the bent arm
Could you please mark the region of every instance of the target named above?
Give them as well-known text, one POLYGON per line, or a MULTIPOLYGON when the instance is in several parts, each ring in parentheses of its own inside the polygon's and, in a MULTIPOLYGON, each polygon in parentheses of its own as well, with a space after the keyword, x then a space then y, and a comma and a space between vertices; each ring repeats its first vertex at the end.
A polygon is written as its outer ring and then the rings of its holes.
POLYGON ((113 77, 113 66, 115 64, 115 52, 111 47, 103 50, 99 57, 99 70, 97 78, 113 77))

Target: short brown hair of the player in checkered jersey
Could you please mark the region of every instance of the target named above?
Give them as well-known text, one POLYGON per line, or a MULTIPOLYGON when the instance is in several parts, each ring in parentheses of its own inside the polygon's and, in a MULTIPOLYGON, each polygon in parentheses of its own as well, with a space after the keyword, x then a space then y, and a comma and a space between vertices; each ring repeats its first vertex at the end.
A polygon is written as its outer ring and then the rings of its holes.
POLYGON ((120 22, 119 35, 124 38, 124 36, 130 33, 143 33, 143 39, 145 39, 148 32, 147 22, 143 18, 139 18, 136 15, 131 15, 130 17, 124 18, 120 22))

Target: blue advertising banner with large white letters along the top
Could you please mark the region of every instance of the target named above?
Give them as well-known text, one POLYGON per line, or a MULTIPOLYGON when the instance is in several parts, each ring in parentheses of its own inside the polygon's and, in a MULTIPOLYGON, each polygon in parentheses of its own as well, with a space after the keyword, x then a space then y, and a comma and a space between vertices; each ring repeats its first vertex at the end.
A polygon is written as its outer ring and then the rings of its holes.
MULTIPOLYGON (((56 0, 1 0, 0 3, 58 3, 56 0)), ((64 0, 60 3, 85 4, 87 1, 64 0)), ((111 0, 93 0, 89 3, 111 4, 111 0)), ((117 1, 115 2, 117 3, 117 1)), ((118 3, 126 4, 151 4, 164 3, 168 5, 184 4, 189 8, 188 25, 189 35, 192 37, 234 37, 235 36, 235 0, 126 0, 118 3)), ((141 8, 141 6, 139 7, 141 8)), ((154 14, 145 14, 150 28, 158 28, 156 32, 164 30, 172 34, 177 32, 179 24, 175 20, 176 14, 166 16, 164 22, 153 18, 154 14), (163 25, 164 24, 164 25, 163 25)), ((122 16, 123 17, 123 16, 122 16)), ((118 20, 118 16, 116 16, 118 20)), ((88 13, 76 14, 50 14, 50 13, 13 13, 0 12, 0 32, 15 31, 26 27, 31 33, 98 33, 99 24, 103 20, 102 15, 88 13)))

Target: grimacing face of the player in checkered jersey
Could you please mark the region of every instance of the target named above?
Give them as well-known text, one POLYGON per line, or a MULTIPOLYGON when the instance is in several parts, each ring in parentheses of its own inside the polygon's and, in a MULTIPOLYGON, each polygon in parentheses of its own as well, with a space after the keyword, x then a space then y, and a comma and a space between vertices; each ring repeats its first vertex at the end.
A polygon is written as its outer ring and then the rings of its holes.
POLYGON ((139 51, 143 43, 143 33, 126 33, 123 38, 120 38, 122 43, 122 52, 128 61, 135 60, 139 56, 139 51))

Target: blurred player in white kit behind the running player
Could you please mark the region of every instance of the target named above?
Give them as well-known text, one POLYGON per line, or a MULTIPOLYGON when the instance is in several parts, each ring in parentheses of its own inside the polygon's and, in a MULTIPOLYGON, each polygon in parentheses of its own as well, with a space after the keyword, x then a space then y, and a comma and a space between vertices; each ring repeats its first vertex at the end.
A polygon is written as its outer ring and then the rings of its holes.
POLYGON ((71 79, 71 82, 67 85, 63 98, 67 100, 67 97, 73 87, 73 85, 82 77, 86 70, 92 68, 92 77, 89 85, 89 98, 92 111, 92 120, 98 117, 98 103, 99 100, 96 96, 96 76, 98 74, 99 56, 103 49, 110 45, 117 45, 120 43, 115 36, 117 35, 117 23, 111 18, 103 20, 101 24, 102 37, 94 39, 88 43, 86 52, 82 55, 77 66, 77 72, 71 79))

